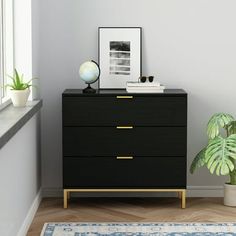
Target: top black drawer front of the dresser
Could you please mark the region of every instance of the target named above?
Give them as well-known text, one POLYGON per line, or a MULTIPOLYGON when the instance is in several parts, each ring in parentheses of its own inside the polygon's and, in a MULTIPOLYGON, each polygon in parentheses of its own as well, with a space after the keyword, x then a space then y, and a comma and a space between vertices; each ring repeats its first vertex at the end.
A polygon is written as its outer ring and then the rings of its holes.
POLYGON ((186 97, 64 97, 64 126, 186 126, 186 97))

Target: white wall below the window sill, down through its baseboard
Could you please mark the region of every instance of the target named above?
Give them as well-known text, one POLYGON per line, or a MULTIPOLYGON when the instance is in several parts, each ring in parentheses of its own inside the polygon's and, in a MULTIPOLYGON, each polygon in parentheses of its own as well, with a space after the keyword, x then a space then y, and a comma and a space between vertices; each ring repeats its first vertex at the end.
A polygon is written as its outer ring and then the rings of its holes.
POLYGON ((25 235, 26 221, 39 200, 39 132, 35 115, 0 149, 0 235, 25 235))

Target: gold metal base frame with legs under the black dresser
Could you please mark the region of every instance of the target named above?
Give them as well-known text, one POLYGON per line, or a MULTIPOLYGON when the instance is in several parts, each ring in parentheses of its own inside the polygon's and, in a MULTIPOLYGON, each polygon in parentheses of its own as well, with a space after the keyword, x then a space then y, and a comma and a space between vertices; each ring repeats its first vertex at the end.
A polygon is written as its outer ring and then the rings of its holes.
POLYGON ((176 192, 178 198, 181 200, 181 208, 186 208, 186 189, 64 189, 64 208, 68 207, 68 199, 70 199, 70 193, 98 193, 98 192, 176 192))

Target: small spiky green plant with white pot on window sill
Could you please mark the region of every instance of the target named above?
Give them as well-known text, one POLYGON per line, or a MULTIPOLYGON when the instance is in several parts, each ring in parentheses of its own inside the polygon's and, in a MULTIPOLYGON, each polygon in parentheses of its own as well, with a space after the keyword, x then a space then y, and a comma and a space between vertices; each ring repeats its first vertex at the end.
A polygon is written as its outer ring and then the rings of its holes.
POLYGON ((24 107, 30 95, 30 87, 32 87, 32 79, 28 82, 24 82, 23 75, 19 76, 17 70, 14 70, 14 75, 9 76, 12 79, 11 84, 7 84, 6 87, 10 87, 10 98, 13 106, 24 107))

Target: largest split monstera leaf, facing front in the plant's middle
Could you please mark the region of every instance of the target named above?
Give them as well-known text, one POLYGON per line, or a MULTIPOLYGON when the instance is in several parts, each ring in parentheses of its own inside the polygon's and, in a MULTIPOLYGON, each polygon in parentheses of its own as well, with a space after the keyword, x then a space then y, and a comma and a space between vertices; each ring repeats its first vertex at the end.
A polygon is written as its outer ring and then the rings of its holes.
POLYGON ((235 169, 233 160, 236 160, 236 134, 227 138, 217 136, 210 140, 205 161, 212 174, 228 175, 235 169))

